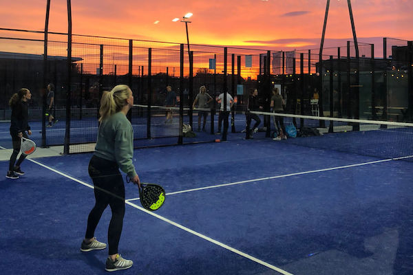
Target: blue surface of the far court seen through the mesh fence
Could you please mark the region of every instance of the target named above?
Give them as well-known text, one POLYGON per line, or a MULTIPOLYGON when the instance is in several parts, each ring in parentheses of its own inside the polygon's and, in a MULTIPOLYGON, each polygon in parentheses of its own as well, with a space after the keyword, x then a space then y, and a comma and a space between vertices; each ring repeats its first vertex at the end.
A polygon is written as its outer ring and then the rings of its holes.
MULTIPOLYGON (((214 133, 218 131, 218 114, 214 115, 214 133)), ((240 133, 245 129, 245 115, 236 114, 234 118, 235 131, 240 133)), ((156 115, 151 117, 150 139, 148 139, 147 116, 138 117, 135 115, 132 120, 132 127, 134 129, 134 146, 142 148, 146 146, 160 146, 171 145, 178 143, 179 135, 179 118, 175 115, 173 122, 165 123, 165 115, 156 115)), ((184 117, 184 123, 189 124, 189 117, 184 117)), ((203 120, 201 122, 203 124, 203 120)), ((29 125, 32 129, 30 139, 34 140, 36 144, 42 142, 42 125, 40 121, 30 121, 29 125)), ((59 120, 52 127, 45 129, 45 142, 47 146, 63 145, 65 142, 65 120, 59 120)), ((202 127, 202 126, 201 126, 202 127)), ((10 122, 0 122, 0 145, 5 148, 12 148, 12 140, 10 138, 10 122)), ((198 131, 198 114, 193 115, 193 131, 196 137, 184 137, 184 143, 194 142, 211 142, 220 135, 211 134, 211 113, 207 116, 207 124, 205 124, 204 131, 198 131)), ((229 133, 231 133, 231 115, 229 118, 229 133)), ((96 142, 98 135, 98 120, 97 118, 83 118, 83 120, 72 119, 70 122, 70 143, 83 144, 89 142, 96 142)), ((235 139, 243 138, 235 137, 235 139)), ((229 139, 234 137, 228 137, 229 139)))

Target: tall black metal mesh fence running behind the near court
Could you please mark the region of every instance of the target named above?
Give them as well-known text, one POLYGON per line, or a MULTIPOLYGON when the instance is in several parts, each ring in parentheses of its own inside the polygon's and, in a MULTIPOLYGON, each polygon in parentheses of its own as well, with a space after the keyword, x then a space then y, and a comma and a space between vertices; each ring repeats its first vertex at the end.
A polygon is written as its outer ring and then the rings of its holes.
POLYGON ((374 45, 365 43, 359 43, 357 58, 352 42, 326 48, 320 58, 317 49, 282 52, 190 45, 188 52, 187 45, 178 43, 73 35, 69 83, 67 34, 49 34, 47 61, 43 37, 43 32, 0 30, 0 119, 10 118, 8 98, 27 87, 34 94, 30 119, 39 130, 34 140, 43 146, 69 142, 70 152, 65 153, 94 150, 100 97, 118 84, 129 85, 136 104, 147 106, 129 115, 137 147, 215 140, 221 124, 221 102, 216 99, 225 91, 235 101, 229 129, 233 133, 244 130, 250 91, 258 89, 260 102, 270 111, 273 87, 286 100, 286 113, 412 121, 409 41, 383 39, 384 58, 374 56, 374 45), (43 133, 47 83, 55 86, 54 115, 59 122, 43 133), (191 109, 202 85, 214 99, 207 112, 191 109), (167 86, 175 91, 178 108, 172 126, 165 125, 165 110, 158 108, 165 106, 167 86), (185 137, 182 124, 195 129, 198 122, 205 130, 185 137), (65 141, 67 131, 70 139, 65 141))

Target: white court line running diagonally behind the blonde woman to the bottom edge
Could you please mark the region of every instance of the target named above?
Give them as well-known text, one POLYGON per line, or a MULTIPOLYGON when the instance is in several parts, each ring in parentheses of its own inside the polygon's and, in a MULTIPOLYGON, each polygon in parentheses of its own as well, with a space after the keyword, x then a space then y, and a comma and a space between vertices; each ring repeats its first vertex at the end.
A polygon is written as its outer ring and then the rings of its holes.
MULTIPOLYGON (((62 172, 59 171, 59 170, 56 170, 56 169, 54 169, 54 168, 52 168, 52 167, 49 167, 49 166, 46 166, 45 164, 42 164, 41 162, 36 162, 36 161, 33 160, 33 159, 28 159, 28 160, 29 160, 30 162, 33 162, 34 164, 38 164, 39 166, 42 166, 42 167, 44 167, 44 168, 46 168, 46 169, 49 169, 49 170, 53 171, 54 173, 57 173, 57 174, 59 174, 59 175, 62 175, 63 177, 67 177, 68 179, 72 179, 73 181, 76 181, 76 182, 78 182, 79 184, 82 184, 82 185, 84 185, 84 186, 87 186, 87 187, 93 189, 93 186, 92 186, 92 185, 87 184, 87 183, 85 183, 84 181, 81 181, 80 179, 76 179, 76 178, 74 178, 74 177, 71 177, 70 175, 66 175, 65 173, 62 173, 62 172)), ((198 237, 200 237, 201 239, 204 239, 204 240, 206 240, 206 241, 209 241, 209 242, 211 242, 211 243, 214 243, 215 245, 219 245, 220 247, 225 248, 226 250, 229 250, 229 251, 231 251, 231 252, 233 252, 233 253, 235 253, 235 254, 238 254, 238 255, 240 255, 240 256, 243 256, 243 257, 246 258, 246 259, 249 259, 249 260, 251 260, 251 261, 255 261, 255 263, 259 263, 260 265, 264 265, 264 266, 270 268, 271 270, 275 270, 276 272, 279 272, 279 273, 284 274, 284 275, 293 275, 293 274, 291 274, 290 272, 286 272, 285 270, 282 270, 282 269, 280 269, 279 267, 276 267, 275 265, 271 265, 271 264, 266 263, 266 262, 264 262, 264 261, 262 261, 262 260, 260 260, 260 259, 255 258, 254 256, 251 256, 251 255, 249 255, 249 254, 246 254, 246 253, 244 253, 244 252, 242 252, 242 251, 240 251, 240 250, 237 250, 237 249, 235 249, 235 248, 231 248, 231 246, 229 246, 229 245, 226 245, 226 244, 224 244, 224 243, 221 243, 220 241, 216 241, 216 240, 214 240, 214 239, 211 239, 209 236, 205 236, 204 234, 200 234, 200 233, 198 233, 198 232, 196 232, 196 231, 193 231, 193 230, 185 227, 184 225, 180 225, 179 223, 176 223, 175 221, 171 221, 170 219, 167 219, 167 218, 162 217, 162 216, 160 216, 160 215, 158 215, 158 214, 155 214, 154 212, 151 212, 151 211, 149 211, 149 210, 146 210, 145 208, 142 208, 142 207, 140 207, 140 206, 137 206, 137 205, 134 204, 134 203, 131 203, 131 202, 129 202, 129 201, 125 201, 125 203, 127 203, 129 206, 132 206, 132 207, 134 207, 134 208, 136 208, 136 209, 138 209, 138 210, 140 210, 140 211, 142 211, 142 212, 145 212, 145 213, 147 213, 147 214, 150 214, 150 215, 153 216, 153 217, 156 217, 156 218, 158 218, 158 219, 160 219, 160 220, 162 220, 162 221, 165 221, 165 222, 167 222, 167 223, 169 223, 169 224, 171 224, 171 225, 173 225, 173 226, 176 226, 177 228, 180 228, 180 229, 182 229, 182 230, 184 230, 184 231, 187 231, 187 232, 189 232, 189 233, 191 233, 191 234, 194 234, 195 236, 198 236, 198 237)))

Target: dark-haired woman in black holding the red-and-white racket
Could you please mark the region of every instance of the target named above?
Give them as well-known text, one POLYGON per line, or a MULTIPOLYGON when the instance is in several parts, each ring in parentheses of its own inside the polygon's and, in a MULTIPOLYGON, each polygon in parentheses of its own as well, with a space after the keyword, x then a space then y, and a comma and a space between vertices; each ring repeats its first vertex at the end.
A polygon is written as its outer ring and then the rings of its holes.
POLYGON ((30 131, 30 126, 28 124, 28 100, 31 98, 32 94, 29 89, 21 88, 17 94, 14 94, 9 100, 9 105, 12 108, 10 135, 12 136, 13 152, 10 156, 9 169, 6 175, 8 179, 18 179, 19 175, 24 175, 20 166, 26 155, 21 153, 17 162, 16 159, 20 151, 21 137, 28 138, 26 131, 29 135, 32 135, 32 131, 30 131))

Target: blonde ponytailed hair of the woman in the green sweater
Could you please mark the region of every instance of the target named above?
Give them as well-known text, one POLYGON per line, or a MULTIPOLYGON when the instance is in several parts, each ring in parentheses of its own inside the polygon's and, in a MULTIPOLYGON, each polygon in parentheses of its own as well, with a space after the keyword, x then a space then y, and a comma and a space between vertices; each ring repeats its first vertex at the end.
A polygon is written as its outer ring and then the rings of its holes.
POLYGON ((112 91, 104 91, 100 100, 99 122, 120 111, 127 104, 131 93, 127 85, 117 85, 112 91))

